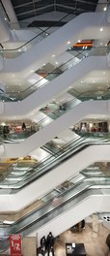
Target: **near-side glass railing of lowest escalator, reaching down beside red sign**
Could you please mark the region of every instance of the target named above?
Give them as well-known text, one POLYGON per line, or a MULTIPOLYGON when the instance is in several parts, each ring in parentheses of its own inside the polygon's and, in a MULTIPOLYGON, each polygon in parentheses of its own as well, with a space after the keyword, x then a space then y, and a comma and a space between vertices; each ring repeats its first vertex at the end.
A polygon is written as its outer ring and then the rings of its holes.
MULTIPOLYGON (((91 186, 90 186, 91 187, 91 186)), ((101 186, 100 186, 101 188, 101 186)), ((105 193, 106 194, 106 193, 105 193)), ((52 220, 54 217, 58 217, 60 214, 67 211, 69 208, 75 207, 76 204, 84 201, 87 197, 91 195, 101 195, 101 190, 99 189, 91 189, 89 190, 89 186, 85 187, 85 189, 81 188, 80 192, 75 194, 74 196, 71 194, 69 196, 64 196, 59 201, 59 206, 56 207, 51 204, 46 204, 43 208, 38 209, 37 211, 31 213, 19 221, 16 221, 13 225, 1 225, 0 233, 2 237, 2 246, 0 246, 0 250, 3 251, 3 248, 9 247, 9 236, 10 234, 18 234, 22 233, 22 235, 27 235, 34 230, 37 230, 48 221, 52 220), (33 226, 34 225, 34 226, 33 226), (31 229, 30 229, 31 228, 31 229)), ((0 240, 1 241, 1 240, 0 240)))

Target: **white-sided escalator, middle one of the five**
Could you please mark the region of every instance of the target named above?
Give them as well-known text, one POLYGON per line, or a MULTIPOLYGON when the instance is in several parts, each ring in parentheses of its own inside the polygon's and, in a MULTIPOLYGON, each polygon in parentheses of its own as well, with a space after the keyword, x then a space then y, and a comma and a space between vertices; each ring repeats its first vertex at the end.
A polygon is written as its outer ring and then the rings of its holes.
MULTIPOLYGON (((108 102, 106 101, 87 101, 79 104, 78 100, 70 102, 67 111, 53 112, 52 116, 46 116, 38 123, 41 130, 30 136, 21 143, 3 144, 4 157, 22 157, 30 154, 34 149, 46 144, 66 128, 78 123, 80 120, 91 115, 107 115, 108 102), (48 118, 49 117, 49 118, 48 118), (46 135, 46 136, 45 136, 46 135)), ((3 154, 3 152, 2 152, 3 154)))

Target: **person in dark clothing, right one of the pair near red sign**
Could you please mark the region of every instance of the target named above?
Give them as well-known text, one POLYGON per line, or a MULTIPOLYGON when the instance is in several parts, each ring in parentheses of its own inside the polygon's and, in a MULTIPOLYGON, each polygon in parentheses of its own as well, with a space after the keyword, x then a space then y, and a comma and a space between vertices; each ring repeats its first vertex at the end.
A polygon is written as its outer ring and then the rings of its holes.
POLYGON ((49 232, 46 243, 47 243, 47 255, 49 256, 50 251, 52 252, 52 256, 54 256, 54 237, 51 232, 49 232))

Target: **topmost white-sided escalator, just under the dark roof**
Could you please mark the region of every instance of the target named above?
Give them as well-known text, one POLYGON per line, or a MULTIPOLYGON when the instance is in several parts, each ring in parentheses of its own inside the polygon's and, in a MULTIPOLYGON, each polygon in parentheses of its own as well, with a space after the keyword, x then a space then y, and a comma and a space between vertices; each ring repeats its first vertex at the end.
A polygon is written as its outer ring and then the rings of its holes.
MULTIPOLYGON (((80 16, 76 16, 70 20, 69 23, 44 38, 39 44, 33 44, 33 41, 29 42, 29 44, 27 43, 27 45, 25 45, 25 52, 22 53, 22 47, 17 48, 17 52, 19 52, 19 56, 17 55, 17 58, 10 59, 10 62, 8 59, 5 59, 4 73, 24 73, 24 71, 26 71, 27 68, 30 68, 34 63, 36 63, 36 66, 40 68, 43 63, 48 61, 48 55, 51 56, 52 54, 55 54, 55 52, 58 55, 66 51, 70 46, 78 42, 79 38, 80 40, 92 40, 104 37, 108 40, 108 18, 109 13, 107 14, 107 12, 85 13, 80 16), (101 26, 104 29, 104 35, 103 33, 99 34, 98 32, 101 26), (63 37, 61 37, 61 35, 63 35, 63 37), (33 45, 33 48, 30 48, 30 45, 33 45)), ((34 42, 36 42, 35 39, 34 42)), ((16 51, 16 49, 10 50, 10 52, 13 53, 14 51, 16 51)))

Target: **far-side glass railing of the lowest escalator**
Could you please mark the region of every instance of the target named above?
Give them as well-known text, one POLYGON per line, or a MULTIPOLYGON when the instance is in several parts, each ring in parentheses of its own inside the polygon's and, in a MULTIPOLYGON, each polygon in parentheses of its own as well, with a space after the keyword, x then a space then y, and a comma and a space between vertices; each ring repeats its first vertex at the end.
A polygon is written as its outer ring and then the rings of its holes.
MULTIPOLYGON (((110 185, 110 180, 107 183, 110 185)), ((39 221, 39 218, 41 218, 41 216, 43 216, 44 218, 46 214, 50 214, 56 208, 57 210, 58 208, 60 208, 60 212, 58 210, 57 215, 61 214, 62 212, 64 212, 64 205, 67 205, 67 203, 69 204, 69 202, 72 202, 70 203, 70 205, 72 204, 72 207, 75 205, 74 204, 75 202, 73 201, 74 199, 76 199, 77 201, 77 197, 79 197, 79 194, 82 200, 83 193, 87 191, 89 188, 92 188, 92 186, 95 187, 96 185, 98 185, 99 188, 101 188, 101 186, 105 184, 106 184, 106 180, 104 181, 101 180, 101 182, 100 181, 98 182, 98 180, 96 181, 95 178, 93 180, 92 178, 89 180, 85 179, 84 182, 81 182, 80 184, 75 185, 73 188, 70 188, 68 191, 65 191, 60 195, 58 195, 57 199, 59 200, 59 204, 58 203, 54 204, 54 198, 48 197, 48 200, 45 202, 45 204, 40 208, 38 208, 37 210, 34 210, 31 214, 28 214, 26 217, 23 217, 22 219, 16 221, 14 224, 10 225, 9 227, 4 226, 4 229, 3 229, 1 226, 0 229, 3 232, 2 236, 8 236, 11 233, 16 233, 17 231, 24 230, 25 228, 29 227, 29 225, 31 226, 33 222, 35 223, 35 221, 39 221)))

